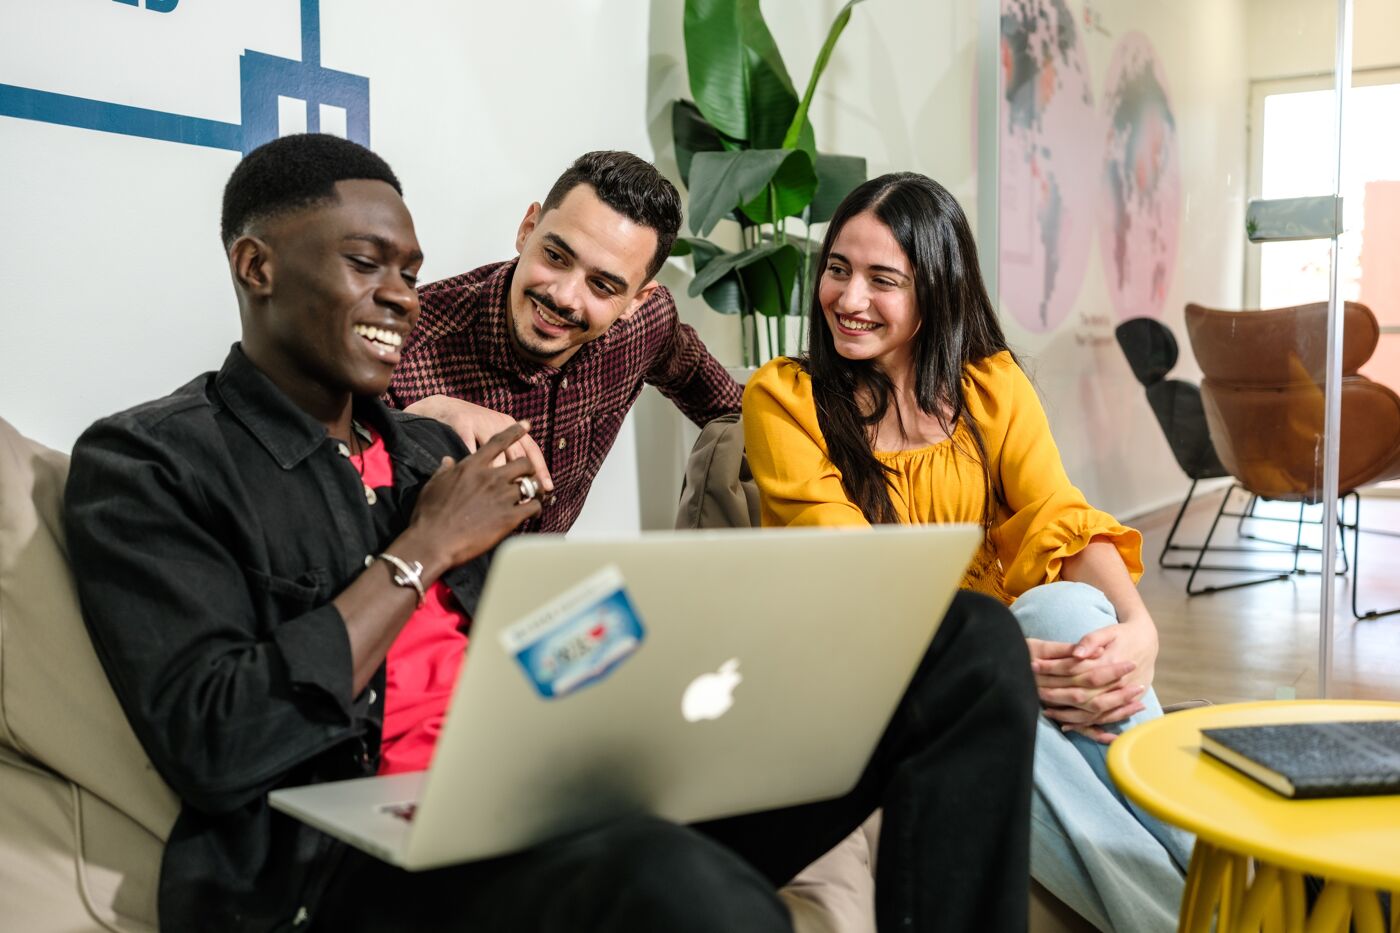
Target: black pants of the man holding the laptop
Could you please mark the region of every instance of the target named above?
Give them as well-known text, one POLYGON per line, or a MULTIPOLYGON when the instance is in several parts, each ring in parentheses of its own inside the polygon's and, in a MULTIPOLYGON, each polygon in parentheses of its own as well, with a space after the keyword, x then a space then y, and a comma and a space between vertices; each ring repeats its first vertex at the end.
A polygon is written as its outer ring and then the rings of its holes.
POLYGON ((790 930, 776 890, 883 807, 881 930, 1025 930, 1037 714, 1011 614, 960 594, 844 797, 694 827, 637 817, 421 873, 351 852, 315 929, 790 930))

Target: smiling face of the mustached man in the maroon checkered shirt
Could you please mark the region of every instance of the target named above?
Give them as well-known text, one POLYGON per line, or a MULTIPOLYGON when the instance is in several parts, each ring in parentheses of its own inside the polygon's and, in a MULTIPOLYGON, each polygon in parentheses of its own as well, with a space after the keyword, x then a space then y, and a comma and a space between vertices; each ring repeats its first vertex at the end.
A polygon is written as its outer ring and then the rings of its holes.
POLYGON ((515 249, 511 343, 533 363, 563 366, 636 314, 657 287, 647 275, 657 231, 605 205, 587 184, 547 212, 531 205, 515 249))

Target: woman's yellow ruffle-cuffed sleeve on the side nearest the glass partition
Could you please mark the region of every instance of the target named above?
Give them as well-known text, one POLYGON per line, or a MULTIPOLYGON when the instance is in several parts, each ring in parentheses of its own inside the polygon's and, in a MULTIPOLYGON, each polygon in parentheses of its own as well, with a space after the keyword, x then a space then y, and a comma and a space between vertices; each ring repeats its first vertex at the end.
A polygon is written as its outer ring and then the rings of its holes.
POLYGON ((1030 380, 1009 353, 967 368, 967 405, 981 427, 1005 504, 991 528, 1004 586, 1018 597, 1060 579, 1065 558, 1107 538, 1133 580, 1142 576, 1142 535, 1089 506, 1064 472, 1060 448, 1030 380))

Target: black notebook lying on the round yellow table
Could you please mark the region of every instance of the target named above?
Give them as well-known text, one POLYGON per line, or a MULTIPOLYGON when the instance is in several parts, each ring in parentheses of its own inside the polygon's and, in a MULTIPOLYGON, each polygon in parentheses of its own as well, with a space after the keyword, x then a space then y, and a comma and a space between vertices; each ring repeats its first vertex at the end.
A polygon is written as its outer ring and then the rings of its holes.
POLYGON ((1400 720, 1203 728, 1201 749, 1285 797, 1400 794, 1400 720))

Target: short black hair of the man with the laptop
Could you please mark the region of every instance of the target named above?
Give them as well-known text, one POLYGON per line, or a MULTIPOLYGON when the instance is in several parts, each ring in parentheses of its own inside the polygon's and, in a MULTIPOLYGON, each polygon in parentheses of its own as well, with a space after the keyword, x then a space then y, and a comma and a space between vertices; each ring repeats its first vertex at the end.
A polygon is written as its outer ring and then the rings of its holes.
POLYGON ((263 143, 244 157, 224 185, 220 235, 224 249, 259 220, 335 200, 336 182, 368 178, 403 195, 388 163, 358 143, 329 133, 297 133, 263 143))

